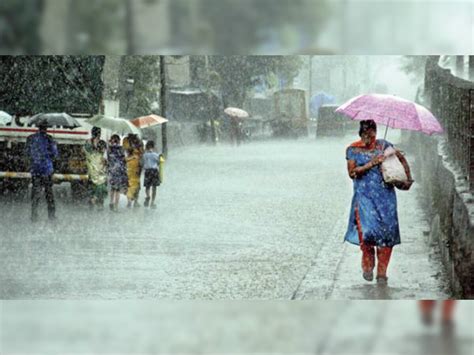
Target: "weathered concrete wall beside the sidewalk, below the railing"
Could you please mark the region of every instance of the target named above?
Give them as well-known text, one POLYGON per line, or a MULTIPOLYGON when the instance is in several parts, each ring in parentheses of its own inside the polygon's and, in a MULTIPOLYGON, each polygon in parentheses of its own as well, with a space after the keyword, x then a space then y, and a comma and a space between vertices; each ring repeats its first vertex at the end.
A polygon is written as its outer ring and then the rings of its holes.
MULTIPOLYGON (((450 162, 446 140, 410 134, 415 180, 431 223, 430 242, 438 244, 456 298, 474 298, 474 196, 450 162)), ((414 270, 416 272, 416 270, 414 270)))

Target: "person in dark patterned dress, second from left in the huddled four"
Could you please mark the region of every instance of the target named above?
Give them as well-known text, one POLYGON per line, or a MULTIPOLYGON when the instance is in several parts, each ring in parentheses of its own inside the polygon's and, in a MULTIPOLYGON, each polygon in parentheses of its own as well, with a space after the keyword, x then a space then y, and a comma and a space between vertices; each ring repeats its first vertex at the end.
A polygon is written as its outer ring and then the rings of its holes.
POLYGON ((116 134, 110 138, 107 164, 110 183, 110 210, 117 212, 120 194, 127 193, 128 176, 125 153, 120 145, 120 137, 116 134))

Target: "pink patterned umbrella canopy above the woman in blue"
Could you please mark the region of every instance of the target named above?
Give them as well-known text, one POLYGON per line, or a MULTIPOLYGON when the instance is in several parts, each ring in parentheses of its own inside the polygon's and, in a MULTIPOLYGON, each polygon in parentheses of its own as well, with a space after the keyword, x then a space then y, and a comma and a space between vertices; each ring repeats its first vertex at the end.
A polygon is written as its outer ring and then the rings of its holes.
POLYGON ((356 121, 374 120, 387 127, 428 135, 443 132, 438 120, 425 107, 393 95, 360 95, 339 106, 336 112, 356 121))

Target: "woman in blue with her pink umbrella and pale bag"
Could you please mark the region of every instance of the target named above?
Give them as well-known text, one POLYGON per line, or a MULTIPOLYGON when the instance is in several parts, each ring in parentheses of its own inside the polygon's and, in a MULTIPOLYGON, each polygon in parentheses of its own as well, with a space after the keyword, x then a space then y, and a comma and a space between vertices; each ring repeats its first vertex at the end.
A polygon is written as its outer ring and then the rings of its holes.
POLYGON ((387 283, 387 268, 392 248, 400 244, 397 199, 394 187, 408 190, 413 184, 403 154, 386 141, 388 127, 421 131, 443 131, 436 118, 423 106, 393 96, 368 94, 357 96, 336 109, 360 121, 361 139, 346 151, 347 170, 354 181, 349 225, 344 240, 360 246, 362 276, 373 280, 377 255, 377 281, 387 283), (377 123, 386 126, 384 139, 377 139, 377 123), (400 180, 392 179, 388 163, 401 165, 400 180), (404 170, 404 171, 403 171, 404 170))

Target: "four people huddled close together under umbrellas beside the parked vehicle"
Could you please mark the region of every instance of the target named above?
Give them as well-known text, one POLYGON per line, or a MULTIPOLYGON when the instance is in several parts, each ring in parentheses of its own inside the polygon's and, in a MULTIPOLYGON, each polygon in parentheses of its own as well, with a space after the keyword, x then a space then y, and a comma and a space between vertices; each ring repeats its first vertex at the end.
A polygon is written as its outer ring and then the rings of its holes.
POLYGON ((140 207, 141 175, 145 171, 144 205, 156 209, 156 191, 161 181, 160 155, 155 152, 155 143, 148 141, 144 148, 137 135, 129 134, 121 144, 120 136, 114 134, 107 145, 100 136, 100 128, 94 127, 92 138, 84 147, 91 184, 91 206, 102 209, 110 189, 111 211, 118 211, 121 194, 127 196, 128 208, 140 207))

